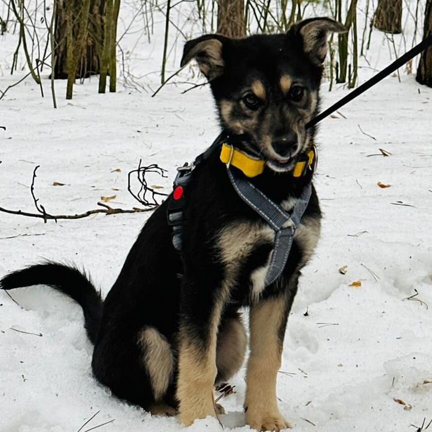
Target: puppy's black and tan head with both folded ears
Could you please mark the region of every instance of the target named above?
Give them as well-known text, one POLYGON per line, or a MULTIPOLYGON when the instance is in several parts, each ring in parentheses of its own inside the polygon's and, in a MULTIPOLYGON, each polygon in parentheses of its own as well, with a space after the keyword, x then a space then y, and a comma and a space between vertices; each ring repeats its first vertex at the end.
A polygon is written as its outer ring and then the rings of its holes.
POLYGON ((285 34, 231 39, 207 34, 186 42, 181 65, 194 58, 207 77, 222 127, 240 135, 274 171, 292 169, 308 150, 318 110, 328 32, 345 28, 312 18, 285 34))

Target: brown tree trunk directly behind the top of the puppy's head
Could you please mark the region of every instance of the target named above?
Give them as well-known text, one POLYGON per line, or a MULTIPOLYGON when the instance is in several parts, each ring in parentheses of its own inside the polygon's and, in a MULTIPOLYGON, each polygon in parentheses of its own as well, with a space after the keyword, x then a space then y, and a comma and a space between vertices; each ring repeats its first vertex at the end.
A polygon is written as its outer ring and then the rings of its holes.
POLYGON ((217 5, 217 32, 228 37, 244 37, 244 0, 218 0, 217 5))

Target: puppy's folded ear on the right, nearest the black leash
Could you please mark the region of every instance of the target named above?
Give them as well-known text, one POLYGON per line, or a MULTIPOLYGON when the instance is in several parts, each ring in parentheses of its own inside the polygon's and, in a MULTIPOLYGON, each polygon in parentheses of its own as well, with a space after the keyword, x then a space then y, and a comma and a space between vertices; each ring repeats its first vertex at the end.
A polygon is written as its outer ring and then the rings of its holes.
POLYGON ((291 29, 302 37, 304 52, 317 66, 320 66, 325 60, 328 33, 347 31, 340 22, 325 17, 305 19, 291 29))

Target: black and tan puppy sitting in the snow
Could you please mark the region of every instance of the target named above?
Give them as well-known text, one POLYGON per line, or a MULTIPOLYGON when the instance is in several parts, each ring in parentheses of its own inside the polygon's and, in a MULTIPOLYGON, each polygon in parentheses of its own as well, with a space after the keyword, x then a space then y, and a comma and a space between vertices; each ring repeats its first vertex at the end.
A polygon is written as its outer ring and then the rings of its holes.
MULTIPOLYGON (((315 127, 305 126, 319 110, 327 35, 341 31, 336 21, 312 18, 284 34, 208 34, 184 46, 181 65, 195 59, 207 78, 229 151, 262 162, 247 181, 288 213, 311 184, 312 165, 299 176, 293 170, 313 148, 315 127)), ((184 186, 181 250, 167 223, 171 194, 143 226, 103 301, 89 277, 55 262, 11 272, 0 287, 45 284, 78 302, 96 379, 152 413, 178 413, 184 425, 223 412, 213 387, 243 363, 239 309, 248 306, 246 423, 278 431, 289 427, 275 391, 284 331, 321 212, 312 185, 289 255, 266 285, 276 231, 234 190, 228 171, 245 175, 229 166, 232 154, 222 163, 220 152, 211 146, 184 186)))

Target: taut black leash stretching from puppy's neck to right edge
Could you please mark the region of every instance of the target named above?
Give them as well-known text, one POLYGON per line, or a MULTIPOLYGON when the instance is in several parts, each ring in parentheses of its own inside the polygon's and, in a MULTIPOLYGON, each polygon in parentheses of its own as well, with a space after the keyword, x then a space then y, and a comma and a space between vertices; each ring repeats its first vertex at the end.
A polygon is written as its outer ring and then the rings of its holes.
POLYGON ((405 52, 402 56, 400 56, 399 58, 396 58, 396 60, 394 60, 387 67, 385 67, 384 69, 382 69, 376 75, 372 76, 370 79, 368 79, 366 82, 364 82, 363 84, 361 84, 359 87, 354 88, 349 94, 347 94, 346 96, 342 97, 336 103, 334 103, 329 108, 327 108, 325 111, 322 111, 321 113, 319 113, 315 118, 313 118, 312 120, 310 120, 306 124, 306 129, 308 127, 311 127, 314 124, 318 123, 323 118, 325 118, 327 115, 330 115, 336 109, 339 109, 345 103, 348 103, 354 97, 357 97, 363 91, 366 91, 372 85, 375 85, 377 82, 379 82, 382 78, 385 78, 391 72, 394 72, 397 68, 399 68, 400 66, 402 66, 403 64, 405 64, 412 57, 415 57, 421 51, 423 51, 424 49, 426 49, 430 44, 432 44, 432 33, 429 34, 429 36, 426 37, 425 39, 423 39, 420 43, 418 43, 417 45, 415 45, 412 49, 410 49, 409 51, 405 52))

